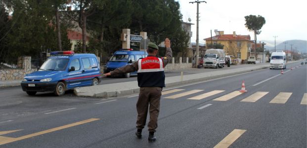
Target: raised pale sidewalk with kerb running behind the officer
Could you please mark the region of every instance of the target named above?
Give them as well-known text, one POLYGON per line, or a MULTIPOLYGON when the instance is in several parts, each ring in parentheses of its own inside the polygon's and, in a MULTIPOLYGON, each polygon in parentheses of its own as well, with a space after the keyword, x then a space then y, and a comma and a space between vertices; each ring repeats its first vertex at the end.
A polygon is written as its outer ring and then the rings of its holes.
MULTIPOLYGON (((263 64, 263 65, 255 65, 250 67, 229 69, 223 71, 188 74, 188 75, 183 75, 182 77, 181 75, 171 76, 165 78, 165 84, 166 87, 173 87, 186 83, 199 82, 223 76, 257 71, 261 69, 266 69, 268 67, 269 64, 263 64)), ((80 88, 75 88, 74 90, 74 93, 77 96, 102 97, 102 98, 121 97, 121 96, 132 95, 138 92, 139 92, 139 87, 137 86, 137 81, 80 87, 80 88)))

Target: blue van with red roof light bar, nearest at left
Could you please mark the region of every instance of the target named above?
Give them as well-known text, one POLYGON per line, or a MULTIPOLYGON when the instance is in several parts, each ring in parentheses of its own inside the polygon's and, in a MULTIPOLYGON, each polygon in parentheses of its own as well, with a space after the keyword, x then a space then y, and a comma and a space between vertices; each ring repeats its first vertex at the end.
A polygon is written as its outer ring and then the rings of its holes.
POLYGON ((61 96, 69 89, 99 84, 100 66, 94 54, 55 51, 50 55, 37 72, 27 74, 21 82, 28 95, 51 91, 61 96))

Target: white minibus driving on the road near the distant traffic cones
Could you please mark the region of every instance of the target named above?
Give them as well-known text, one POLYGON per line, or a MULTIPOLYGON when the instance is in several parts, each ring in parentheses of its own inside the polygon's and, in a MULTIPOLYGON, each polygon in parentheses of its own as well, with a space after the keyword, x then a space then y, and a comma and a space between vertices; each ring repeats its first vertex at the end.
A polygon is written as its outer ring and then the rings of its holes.
POLYGON ((286 69, 287 58, 283 51, 272 52, 270 60, 270 69, 286 69))

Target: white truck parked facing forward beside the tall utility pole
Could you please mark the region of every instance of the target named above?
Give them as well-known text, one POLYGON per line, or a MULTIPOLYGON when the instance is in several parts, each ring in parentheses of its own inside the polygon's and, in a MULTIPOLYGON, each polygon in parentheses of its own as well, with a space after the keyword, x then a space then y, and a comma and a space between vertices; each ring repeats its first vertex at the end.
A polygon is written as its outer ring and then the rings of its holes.
POLYGON ((225 66, 225 52, 223 49, 207 49, 204 59, 204 68, 223 68, 225 66))

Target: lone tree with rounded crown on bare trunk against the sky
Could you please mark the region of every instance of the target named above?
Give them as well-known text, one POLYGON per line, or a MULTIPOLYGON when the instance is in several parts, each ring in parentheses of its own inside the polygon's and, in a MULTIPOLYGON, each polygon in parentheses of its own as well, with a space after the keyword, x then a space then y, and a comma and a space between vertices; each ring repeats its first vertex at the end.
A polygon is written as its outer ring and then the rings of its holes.
POLYGON ((245 16, 245 27, 247 27, 247 29, 251 32, 254 32, 254 36, 255 36, 255 56, 256 56, 256 44, 257 44, 257 35, 260 35, 261 33, 261 28, 263 27, 263 25, 265 24, 265 19, 264 17, 262 17, 261 15, 249 15, 249 16, 245 16))

